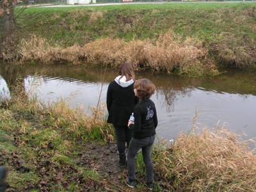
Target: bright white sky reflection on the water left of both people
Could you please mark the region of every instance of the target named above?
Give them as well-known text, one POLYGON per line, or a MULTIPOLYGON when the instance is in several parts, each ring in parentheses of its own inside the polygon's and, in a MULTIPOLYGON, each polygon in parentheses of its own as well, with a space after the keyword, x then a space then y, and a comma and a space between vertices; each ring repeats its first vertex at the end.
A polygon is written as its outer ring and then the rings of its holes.
MULTIPOLYGON (((100 99, 100 83, 76 81, 73 78, 28 76, 24 78, 24 84, 26 92, 45 104, 62 99, 72 108, 79 106, 88 109, 90 106, 97 106, 100 99)), ((108 84, 104 84, 103 89, 106 90, 107 86, 108 84)), ((102 95, 106 95, 105 91, 102 95)), ((106 97, 103 99, 100 101, 105 102, 106 97)))

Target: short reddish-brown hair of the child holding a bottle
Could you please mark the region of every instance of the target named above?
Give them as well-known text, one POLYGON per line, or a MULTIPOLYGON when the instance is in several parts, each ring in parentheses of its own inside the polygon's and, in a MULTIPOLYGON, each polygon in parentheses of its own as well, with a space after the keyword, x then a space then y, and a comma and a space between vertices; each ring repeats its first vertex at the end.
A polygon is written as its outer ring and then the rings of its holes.
POLYGON ((134 83, 134 89, 137 90, 139 99, 147 100, 154 94, 156 87, 148 79, 138 79, 134 83))

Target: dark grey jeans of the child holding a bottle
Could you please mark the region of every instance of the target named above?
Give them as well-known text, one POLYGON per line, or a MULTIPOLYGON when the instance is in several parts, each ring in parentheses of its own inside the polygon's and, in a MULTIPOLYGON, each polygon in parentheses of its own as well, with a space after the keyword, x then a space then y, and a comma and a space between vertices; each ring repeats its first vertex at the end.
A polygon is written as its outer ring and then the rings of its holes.
POLYGON ((152 163, 152 145, 154 144, 155 136, 150 136, 141 140, 131 139, 128 154, 127 154, 127 166, 128 166, 128 178, 129 180, 136 180, 135 175, 135 157, 140 148, 142 149, 143 161, 146 167, 146 182, 153 182, 154 180, 154 168, 152 163))

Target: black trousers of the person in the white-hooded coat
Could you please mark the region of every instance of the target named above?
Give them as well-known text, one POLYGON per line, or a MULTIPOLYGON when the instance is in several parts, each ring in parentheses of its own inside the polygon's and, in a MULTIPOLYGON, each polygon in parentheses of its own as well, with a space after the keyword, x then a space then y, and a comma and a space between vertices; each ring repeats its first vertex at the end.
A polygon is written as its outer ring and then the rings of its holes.
POLYGON ((119 154, 125 154, 125 143, 127 143, 127 148, 132 138, 132 131, 127 127, 127 125, 114 125, 116 131, 116 144, 119 154))

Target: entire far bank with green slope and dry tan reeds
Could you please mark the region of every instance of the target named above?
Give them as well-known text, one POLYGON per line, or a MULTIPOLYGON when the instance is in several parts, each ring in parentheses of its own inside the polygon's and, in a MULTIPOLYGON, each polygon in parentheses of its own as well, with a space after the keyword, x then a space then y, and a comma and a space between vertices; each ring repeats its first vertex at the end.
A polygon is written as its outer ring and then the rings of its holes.
POLYGON ((1 58, 20 63, 61 62, 81 65, 97 63, 108 67, 116 67, 120 62, 130 61, 138 70, 149 68, 152 71, 186 76, 216 76, 229 67, 253 70, 256 62, 255 45, 252 44, 256 38, 252 33, 256 29, 253 22, 256 15, 255 6, 253 3, 250 6, 242 4, 241 7, 223 5, 223 8, 209 8, 207 5, 196 8, 188 4, 186 8, 178 6, 175 8, 177 11, 164 4, 157 7, 143 5, 146 8, 138 8, 131 4, 129 6, 131 10, 125 5, 89 9, 29 8, 17 19, 19 26, 17 42, 10 44, 12 49, 6 47, 1 58), (163 15, 159 15, 157 9, 161 10, 163 15), (208 9, 210 11, 207 11, 208 9), (189 13, 189 17, 184 15, 186 12, 189 13), (175 13, 174 18, 172 18, 173 13, 175 13), (227 13, 230 15, 228 18, 227 13), (182 14, 184 18, 180 23, 182 14), (214 19, 217 14, 218 19, 214 19), (243 20, 248 21, 246 24, 240 25, 239 20, 230 20, 232 16, 238 19, 238 15, 241 14, 243 20), (202 15, 209 19, 202 19, 202 15), (81 19, 77 20, 77 17, 81 19), (141 19, 135 19, 139 17, 141 19), (172 19, 168 23, 165 17, 172 19), (212 19, 213 22, 208 22, 212 19), (70 22, 72 20, 76 20, 76 26, 72 26, 70 22), (150 23, 158 23, 160 20, 164 21, 165 26, 154 24, 150 27, 150 23), (193 20, 200 21, 202 28, 198 28, 193 20), (191 26, 189 31, 186 30, 188 23, 191 26), (51 28, 51 32, 46 28, 42 29, 42 26, 51 28), (145 31, 144 28, 150 30, 145 31), (113 30, 113 33, 109 33, 109 29, 113 30), (236 31, 231 33, 231 29, 236 31), (199 34, 198 30, 201 31, 199 34), (70 36, 65 33, 70 33, 70 36), (218 33, 223 36, 222 39, 219 39, 218 33), (24 34, 27 34, 26 37, 24 34), (70 38, 71 36, 76 38, 70 38), (167 46, 164 36, 168 36, 169 45, 175 44, 175 46, 167 46), (20 42, 20 39, 23 40, 20 42), (99 44, 100 40, 102 44, 99 44), (92 52, 92 49, 97 49, 97 52, 92 52), (178 51, 175 51, 176 49, 178 51), (191 53, 187 54, 188 52, 191 53), (100 54, 102 57, 99 57, 100 54))

